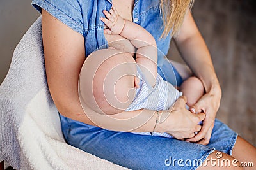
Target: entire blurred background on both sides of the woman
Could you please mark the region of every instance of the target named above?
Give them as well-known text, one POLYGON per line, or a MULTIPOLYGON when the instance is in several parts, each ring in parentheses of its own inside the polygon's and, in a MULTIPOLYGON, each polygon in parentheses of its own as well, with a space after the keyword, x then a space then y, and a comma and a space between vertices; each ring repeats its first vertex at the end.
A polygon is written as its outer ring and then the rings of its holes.
MULTIPOLYGON (((223 90, 217 117, 256 146, 256 13, 253 0, 196 0, 193 16, 223 90)), ((31 0, 0 1, 0 83, 20 38, 39 16, 31 0)), ((182 60, 172 43, 168 55, 182 60)))

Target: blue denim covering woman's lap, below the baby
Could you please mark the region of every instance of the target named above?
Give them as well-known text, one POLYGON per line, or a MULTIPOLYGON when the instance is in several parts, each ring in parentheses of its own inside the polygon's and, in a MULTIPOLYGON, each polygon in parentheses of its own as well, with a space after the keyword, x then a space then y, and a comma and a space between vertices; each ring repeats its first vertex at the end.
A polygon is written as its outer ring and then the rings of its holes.
POLYGON ((237 134, 219 120, 216 120, 209 145, 205 146, 173 138, 108 131, 60 118, 67 143, 130 169, 193 169, 193 161, 204 162, 214 149, 230 154, 237 138, 237 134), (179 159, 184 166, 179 166, 179 159), (189 160, 191 166, 187 166, 189 160))

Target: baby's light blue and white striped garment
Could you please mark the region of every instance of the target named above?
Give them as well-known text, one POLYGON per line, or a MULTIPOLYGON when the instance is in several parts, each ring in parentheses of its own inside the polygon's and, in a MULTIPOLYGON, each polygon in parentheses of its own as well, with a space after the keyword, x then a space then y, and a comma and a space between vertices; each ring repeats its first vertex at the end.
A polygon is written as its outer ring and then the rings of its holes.
MULTIPOLYGON (((163 78, 157 74, 156 85, 150 86, 147 79, 143 75, 140 67, 137 67, 137 77, 140 79, 140 87, 136 89, 136 96, 125 111, 133 111, 140 109, 148 110, 168 110, 173 103, 182 96, 173 85, 164 81, 163 78)), ((135 134, 151 135, 150 132, 134 132, 135 134)), ((153 133, 154 136, 164 136, 173 138, 168 133, 153 133)))

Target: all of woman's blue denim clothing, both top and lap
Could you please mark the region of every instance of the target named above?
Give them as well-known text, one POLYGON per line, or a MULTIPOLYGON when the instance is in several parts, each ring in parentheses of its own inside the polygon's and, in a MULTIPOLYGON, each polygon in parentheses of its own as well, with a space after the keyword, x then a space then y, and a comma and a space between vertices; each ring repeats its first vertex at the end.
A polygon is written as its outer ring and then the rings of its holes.
MULTIPOLYGON (((110 10, 110 0, 33 0, 33 6, 44 8, 52 16, 84 36, 86 56, 98 48, 107 48, 103 34, 102 11, 110 10)), ((163 32, 159 0, 135 0, 133 21, 141 25, 156 39, 158 72, 173 85, 180 85, 182 78, 165 55, 170 45, 170 34, 159 39, 163 32)), ((196 165, 180 167, 169 165, 172 159, 204 161, 215 149, 231 154, 237 134, 227 125, 216 120, 209 145, 186 143, 173 138, 145 136, 129 132, 115 132, 77 122, 60 115, 63 135, 70 145, 102 159, 131 169, 196 169, 196 165), (167 160, 167 161, 166 161, 167 160)))

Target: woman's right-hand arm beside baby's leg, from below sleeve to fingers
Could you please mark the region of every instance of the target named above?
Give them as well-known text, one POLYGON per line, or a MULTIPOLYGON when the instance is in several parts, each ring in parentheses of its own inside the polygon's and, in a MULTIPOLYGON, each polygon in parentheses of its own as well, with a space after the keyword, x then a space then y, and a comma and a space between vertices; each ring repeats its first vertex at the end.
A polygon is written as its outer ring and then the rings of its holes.
POLYGON ((175 43, 182 58, 191 68, 193 73, 204 84, 206 94, 193 106, 195 112, 203 110, 206 114, 204 125, 191 142, 199 140, 202 144, 209 143, 216 113, 220 106, 221 89, 214 71, 211 55, 202 38, 191 13, 189 12, 180 29, 180 34, 175 38, 175 43))

